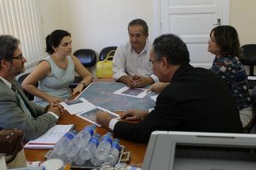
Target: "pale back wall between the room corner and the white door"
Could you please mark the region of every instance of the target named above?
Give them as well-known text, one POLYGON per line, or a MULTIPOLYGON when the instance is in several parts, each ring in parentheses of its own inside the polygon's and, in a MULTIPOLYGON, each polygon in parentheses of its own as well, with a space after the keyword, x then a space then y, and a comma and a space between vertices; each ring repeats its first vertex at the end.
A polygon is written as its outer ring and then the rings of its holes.
POLYGON ((148 23, 152 35, 153 7, 148 0, 65 0, 64 27, 72 33, 73 51, 92 48, 100 53, 107 46, 128 41, 127 25, 136 18, 148 23))

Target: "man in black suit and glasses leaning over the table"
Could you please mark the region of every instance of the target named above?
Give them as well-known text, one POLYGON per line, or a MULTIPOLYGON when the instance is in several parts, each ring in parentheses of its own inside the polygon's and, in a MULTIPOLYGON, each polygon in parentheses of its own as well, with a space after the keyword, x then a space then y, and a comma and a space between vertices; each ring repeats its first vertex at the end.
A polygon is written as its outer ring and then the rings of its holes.
POLYGON ((119 122, 106 112, 97 113, 96 121, 113 129, 114 137, 148 142, 156 130, 242 132, 236 103, 224 81, 211 71, 189 65, 188 48, 179 37, 156 38, 150 61, 160 82, 171 83, 159 94, 153 111, 130 110, 123 116, 140 122, 119 122))

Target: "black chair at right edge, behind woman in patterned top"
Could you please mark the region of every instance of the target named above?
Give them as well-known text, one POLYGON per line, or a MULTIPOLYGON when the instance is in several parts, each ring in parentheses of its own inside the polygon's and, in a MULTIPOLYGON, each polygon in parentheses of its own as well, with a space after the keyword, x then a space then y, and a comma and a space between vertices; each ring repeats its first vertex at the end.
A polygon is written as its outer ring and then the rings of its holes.
MULTIPOLYGON (((250 71, 248 76, 254 76, 254 65, 256 65, 256 44, 246 44, 241 46, 241 63, 249 65, 250 71)), ((252 89, 256 85, 256 81, 248 80, 249 88, 252 89)))

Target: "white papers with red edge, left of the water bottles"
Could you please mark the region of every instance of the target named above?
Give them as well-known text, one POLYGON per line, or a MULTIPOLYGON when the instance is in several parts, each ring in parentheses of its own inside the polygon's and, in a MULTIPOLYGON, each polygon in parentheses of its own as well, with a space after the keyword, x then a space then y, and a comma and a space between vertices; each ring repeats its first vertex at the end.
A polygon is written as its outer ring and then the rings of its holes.
POLYGON ((25 144, 26 149, 53 149, 55 143, 57 143, 65 133, 73 129, 74 125, 55 125, 51 127, 46 133, 40 136, 38 139, 30 140, 25 144))

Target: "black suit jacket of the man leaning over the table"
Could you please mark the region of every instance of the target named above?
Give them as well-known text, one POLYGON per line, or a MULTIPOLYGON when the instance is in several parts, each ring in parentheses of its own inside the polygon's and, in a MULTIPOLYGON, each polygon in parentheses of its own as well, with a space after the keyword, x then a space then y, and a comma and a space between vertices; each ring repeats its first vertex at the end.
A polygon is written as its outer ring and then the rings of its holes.
POLYGON ((182 65, 138 123, 117 122, 116 138, 148 142, 156 130, 241 133, 239 111, 224 81, 203 68, 182 65))

